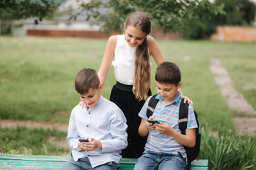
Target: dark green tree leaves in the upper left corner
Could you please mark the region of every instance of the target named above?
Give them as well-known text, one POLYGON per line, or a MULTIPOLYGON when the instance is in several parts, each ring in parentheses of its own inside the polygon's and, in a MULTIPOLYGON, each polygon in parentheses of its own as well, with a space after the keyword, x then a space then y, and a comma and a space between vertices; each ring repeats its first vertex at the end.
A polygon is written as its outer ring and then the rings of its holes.
POLYGON ((53 16, 58 6, 65 0, 1 0, 0 18, 4 19, 26 19, 38 17, 35 23, 43 18, 53 16))

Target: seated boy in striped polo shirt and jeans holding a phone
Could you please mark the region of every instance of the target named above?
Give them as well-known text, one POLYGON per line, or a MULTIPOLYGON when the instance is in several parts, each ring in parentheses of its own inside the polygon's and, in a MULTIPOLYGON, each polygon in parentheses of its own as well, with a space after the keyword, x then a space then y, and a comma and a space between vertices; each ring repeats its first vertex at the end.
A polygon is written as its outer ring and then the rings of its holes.
POLYGON ((171 62, 163 62, 156 69, 156 104, 153 115, 146 116, 146 108, 151 96, 146 100, 139 117, 139 135, 148 135, 144 153, 139 157, 134 169, 186 169, 186 147, 196 143, 196 117, 193 106, 188 106, 188 123, 186 135, 178 128, 178 113, 181 103, 181 72, 178 66, 171 62), (147 120, 157 120, 149 123, 147 120))

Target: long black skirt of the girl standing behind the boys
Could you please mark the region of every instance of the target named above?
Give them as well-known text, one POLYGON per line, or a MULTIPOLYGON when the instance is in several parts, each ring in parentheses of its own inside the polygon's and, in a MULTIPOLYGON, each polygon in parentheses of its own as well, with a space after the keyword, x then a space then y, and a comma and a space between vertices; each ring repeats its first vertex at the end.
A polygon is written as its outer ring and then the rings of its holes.
MULTIPOLYGON (((148 95, 151 96, 150 89, 148 95)), ((137 101, 132 92, 132 86, 120 84, 119 82, 113 86, 110 101, 116 103, 127 118, 128 146, 122 150, 122 157, 140 157, 144 152, 147 137, 139 135, 138 129, 142 118, 139 117, 138 113, 145 101, 137 101)))

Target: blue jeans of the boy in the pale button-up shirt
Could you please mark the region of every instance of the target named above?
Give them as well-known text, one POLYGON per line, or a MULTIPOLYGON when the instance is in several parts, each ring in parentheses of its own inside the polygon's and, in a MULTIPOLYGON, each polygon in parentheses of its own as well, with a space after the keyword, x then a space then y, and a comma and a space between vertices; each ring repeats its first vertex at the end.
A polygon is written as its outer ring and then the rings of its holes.
POLYGON ((87 157, 82 157, 75 162, 74 158, 71 156, 65 164, 61 167, 62 170, 78 170, 78 169, 86 169, 86 170, 116 170, 119 169, 119 164, 117 162, 107 162, 106 164, 102 164, 92 168, 90 164, 90 160, 87 157))

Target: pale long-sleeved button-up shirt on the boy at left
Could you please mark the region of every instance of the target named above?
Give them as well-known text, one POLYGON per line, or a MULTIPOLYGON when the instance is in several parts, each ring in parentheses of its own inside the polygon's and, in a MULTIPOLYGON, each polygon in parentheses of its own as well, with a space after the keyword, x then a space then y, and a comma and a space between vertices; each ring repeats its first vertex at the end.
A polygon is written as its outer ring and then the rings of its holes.
POLYGON ((92 168, 107 162, 117 162, 122 158, 121 149, 127 147, 127 124, 124 113, 104 97, 93 108, 75 106, 68 125, 68 144, 73 158, 88 157, 92 168), (93 137, 100 140, 102 149, 85 151, 78 147, 78 139, 93 137))

